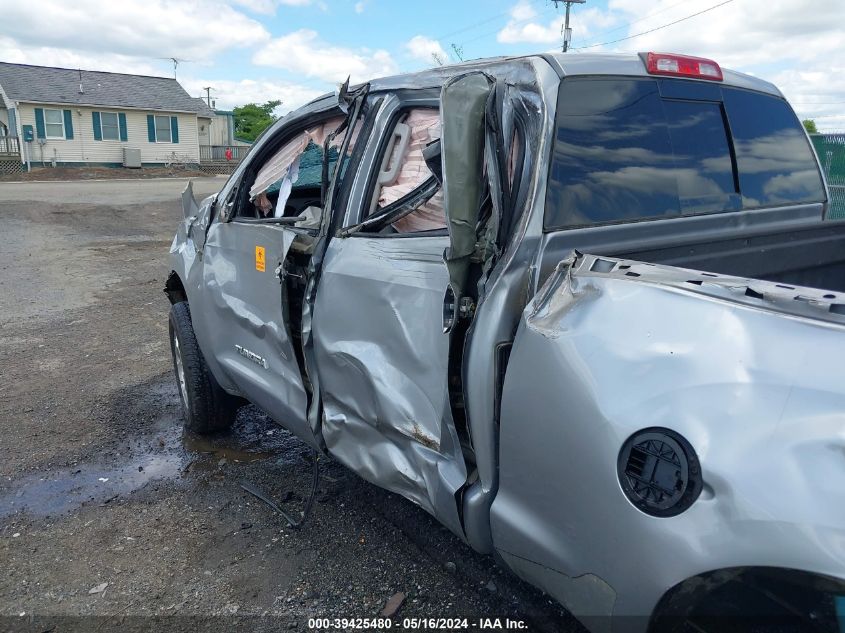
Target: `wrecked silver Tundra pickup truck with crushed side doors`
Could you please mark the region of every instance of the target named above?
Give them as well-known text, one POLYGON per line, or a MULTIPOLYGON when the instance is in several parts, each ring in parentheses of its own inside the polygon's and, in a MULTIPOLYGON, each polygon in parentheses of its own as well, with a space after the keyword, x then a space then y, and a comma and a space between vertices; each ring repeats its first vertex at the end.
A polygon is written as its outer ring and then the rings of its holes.
POLYGON ((183 206, 187 428, 252 402, 593 630, 836 627, 845 222, 771 84, 643 53, 344 86, 183 206))

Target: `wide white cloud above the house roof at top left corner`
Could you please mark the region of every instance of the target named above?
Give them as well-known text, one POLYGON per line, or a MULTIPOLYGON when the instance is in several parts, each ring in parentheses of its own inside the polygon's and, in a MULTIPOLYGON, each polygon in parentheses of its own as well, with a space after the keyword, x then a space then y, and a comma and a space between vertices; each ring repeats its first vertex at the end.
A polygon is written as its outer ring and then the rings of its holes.
MULTIPOLYGON (((15 40, 18 48, 206 61, 226 49, 255 45, 270 37, 260 23, 221 0, 5 4, 3 34, 15 40)), ((37 58, 29 61, 42 63, 37 58)))

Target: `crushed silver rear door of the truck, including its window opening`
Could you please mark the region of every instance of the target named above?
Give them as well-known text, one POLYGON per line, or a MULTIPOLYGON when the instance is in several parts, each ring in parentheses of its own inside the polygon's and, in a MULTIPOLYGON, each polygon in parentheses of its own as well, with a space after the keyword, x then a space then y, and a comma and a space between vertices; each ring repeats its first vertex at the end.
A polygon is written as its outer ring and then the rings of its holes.
MULTIPOLYGON (((479 130, 486 79, 482 84, 475 95, 475 120, 468 116, 464 122, 479 130)), ((441 101, 435 95, 433 105, 441 101)), ((348 218, 357 224, 331 240, 323 262, 313 346, 329 452, 463 537, 461 490, 467 483, 469 438, 453 419, 450 394, 455 373, 450 363, 454 348, 462 348, 462 339, 451 332, 451 297, 459 275, 444 257, 455 244, 438 186, 439 153, 433 151, 442 119, 436 109, 431 116, 424 107, 419 96, 404 103, 395 99, 380 117, 370 146, 375 173, 366 179, 362 209, 348 218), (403 156, 404 165, 397 164, 403 156), (424 177, 414 180, 412 175, 421 172, 424 177)), ((463 158, 480 181, 482 145, 476 145, 463 158)), ((478 202, 476 195, 468 202, 473 208, 465 210, 473 225, 478 202)))

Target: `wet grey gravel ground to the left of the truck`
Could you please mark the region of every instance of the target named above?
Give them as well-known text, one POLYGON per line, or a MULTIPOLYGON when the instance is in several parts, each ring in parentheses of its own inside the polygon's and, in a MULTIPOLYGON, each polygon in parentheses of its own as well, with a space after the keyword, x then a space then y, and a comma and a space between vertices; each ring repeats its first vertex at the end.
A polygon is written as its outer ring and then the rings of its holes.
POLYGON ((162 287, 184 185, 0 185, 0 630, 308 630, 401 592, 400 622, 581 631, 338 464, 289 529, 240 483, 295 511, 307 450, 252 407, 231 436, 183 435, 162 287))

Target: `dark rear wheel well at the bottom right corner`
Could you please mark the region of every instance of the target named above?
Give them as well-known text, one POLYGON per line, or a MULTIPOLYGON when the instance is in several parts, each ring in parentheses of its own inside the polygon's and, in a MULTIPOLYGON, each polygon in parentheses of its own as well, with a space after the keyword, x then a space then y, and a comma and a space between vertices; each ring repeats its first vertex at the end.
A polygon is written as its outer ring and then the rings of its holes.
POLYGON ((688 578, 667 591, 654 610, 649 630, 711 630, 708 626, 715 624, 715 630, 728 631, 734 630, 730 627, 737 621, 747 626, 749 619, 790 620, 807 631, 838 630, 841 596, 845 596, 845 581, 821 574, 780 567, 719 569, 688 578), (697 621, 698 628, 687 628, 697 621))

